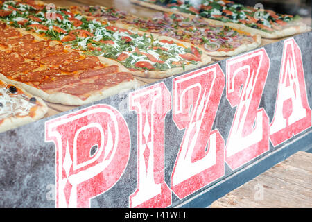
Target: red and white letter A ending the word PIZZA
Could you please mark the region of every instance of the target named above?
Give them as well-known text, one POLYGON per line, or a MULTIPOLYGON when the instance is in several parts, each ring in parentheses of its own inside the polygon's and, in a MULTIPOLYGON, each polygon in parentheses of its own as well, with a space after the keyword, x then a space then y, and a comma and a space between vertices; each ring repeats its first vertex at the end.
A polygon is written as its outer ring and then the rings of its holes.
POLYGON ((270 139, 274 146, 311 127, 311 109, 306 96, 301 51, 293 38, 285 40, 281 73, 270 124, 270 139))

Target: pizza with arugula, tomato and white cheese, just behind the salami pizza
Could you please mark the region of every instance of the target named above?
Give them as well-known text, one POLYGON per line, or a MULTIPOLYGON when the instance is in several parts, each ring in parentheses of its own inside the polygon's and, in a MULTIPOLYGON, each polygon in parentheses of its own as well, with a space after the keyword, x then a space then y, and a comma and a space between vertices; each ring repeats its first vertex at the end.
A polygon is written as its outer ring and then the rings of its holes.
POLYGON ((46 39, 58 40, 87 55, 119 62, 136 76, 164 78, 211 62, 206 53, 188 42, 142 35, 66 8, 50 12, 44 5, 40 6, 43 8, 37 10, 39 6, 33 8, 26 3, 6 1, 0 9, 10 13, 2 16, 0 13, 0 20, 46 39))

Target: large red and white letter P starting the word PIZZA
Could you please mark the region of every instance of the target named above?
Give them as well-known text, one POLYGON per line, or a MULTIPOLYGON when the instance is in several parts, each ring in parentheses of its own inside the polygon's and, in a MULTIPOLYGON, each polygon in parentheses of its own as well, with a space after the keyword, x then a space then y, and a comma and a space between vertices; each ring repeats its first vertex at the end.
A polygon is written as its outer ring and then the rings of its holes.
POLYGON ((110 105, 94 105, 46 122, 54 142, 56 207, 90 207, 90 199, 121 178, 130 155, 130 133, 110 105))

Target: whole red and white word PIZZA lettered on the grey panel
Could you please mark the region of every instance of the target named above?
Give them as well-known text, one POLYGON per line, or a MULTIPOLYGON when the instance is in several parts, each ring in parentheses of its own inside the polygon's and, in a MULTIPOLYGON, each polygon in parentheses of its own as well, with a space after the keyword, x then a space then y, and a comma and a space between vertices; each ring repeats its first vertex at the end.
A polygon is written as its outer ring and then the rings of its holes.
MULTIPOLYGON (((169 207, 311 128, 302 55, 293 38, 284 41, 274 117, 261 107, 270 58, 260 48, 128 94, 129 126, 112 105, 97 104, 46 122, 54 142, 56 207, 90 207, 127 169, 136 151, 135 190, 128 207, 169 207), (225 96, 234 117, 227 137, 214 127, 225 96), (166 124, 182 135, 166 179, 166 124), (130 133, 135 127, 135 141, 130 133), (133 145, 135 144, 135 145, 133 145), (170 182, 168 182, 170 181, 170 182)), ((216 125, 218 126, 218 125, 216 125)), ((171 135, 175 137, 175 135, 171 135)), ((132 165, 133 166, 133 165, 132 165)), ((127 186, 126 184, 124 186, 127 186)))

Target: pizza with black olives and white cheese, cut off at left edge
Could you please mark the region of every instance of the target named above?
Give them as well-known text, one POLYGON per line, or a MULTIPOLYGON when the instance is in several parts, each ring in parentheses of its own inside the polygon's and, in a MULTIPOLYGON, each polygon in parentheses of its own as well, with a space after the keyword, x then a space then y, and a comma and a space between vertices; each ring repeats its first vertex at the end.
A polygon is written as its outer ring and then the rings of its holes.
POLYGON ((46 112, 42 99, 0 80, 0 133, 41 119, 46 112))

